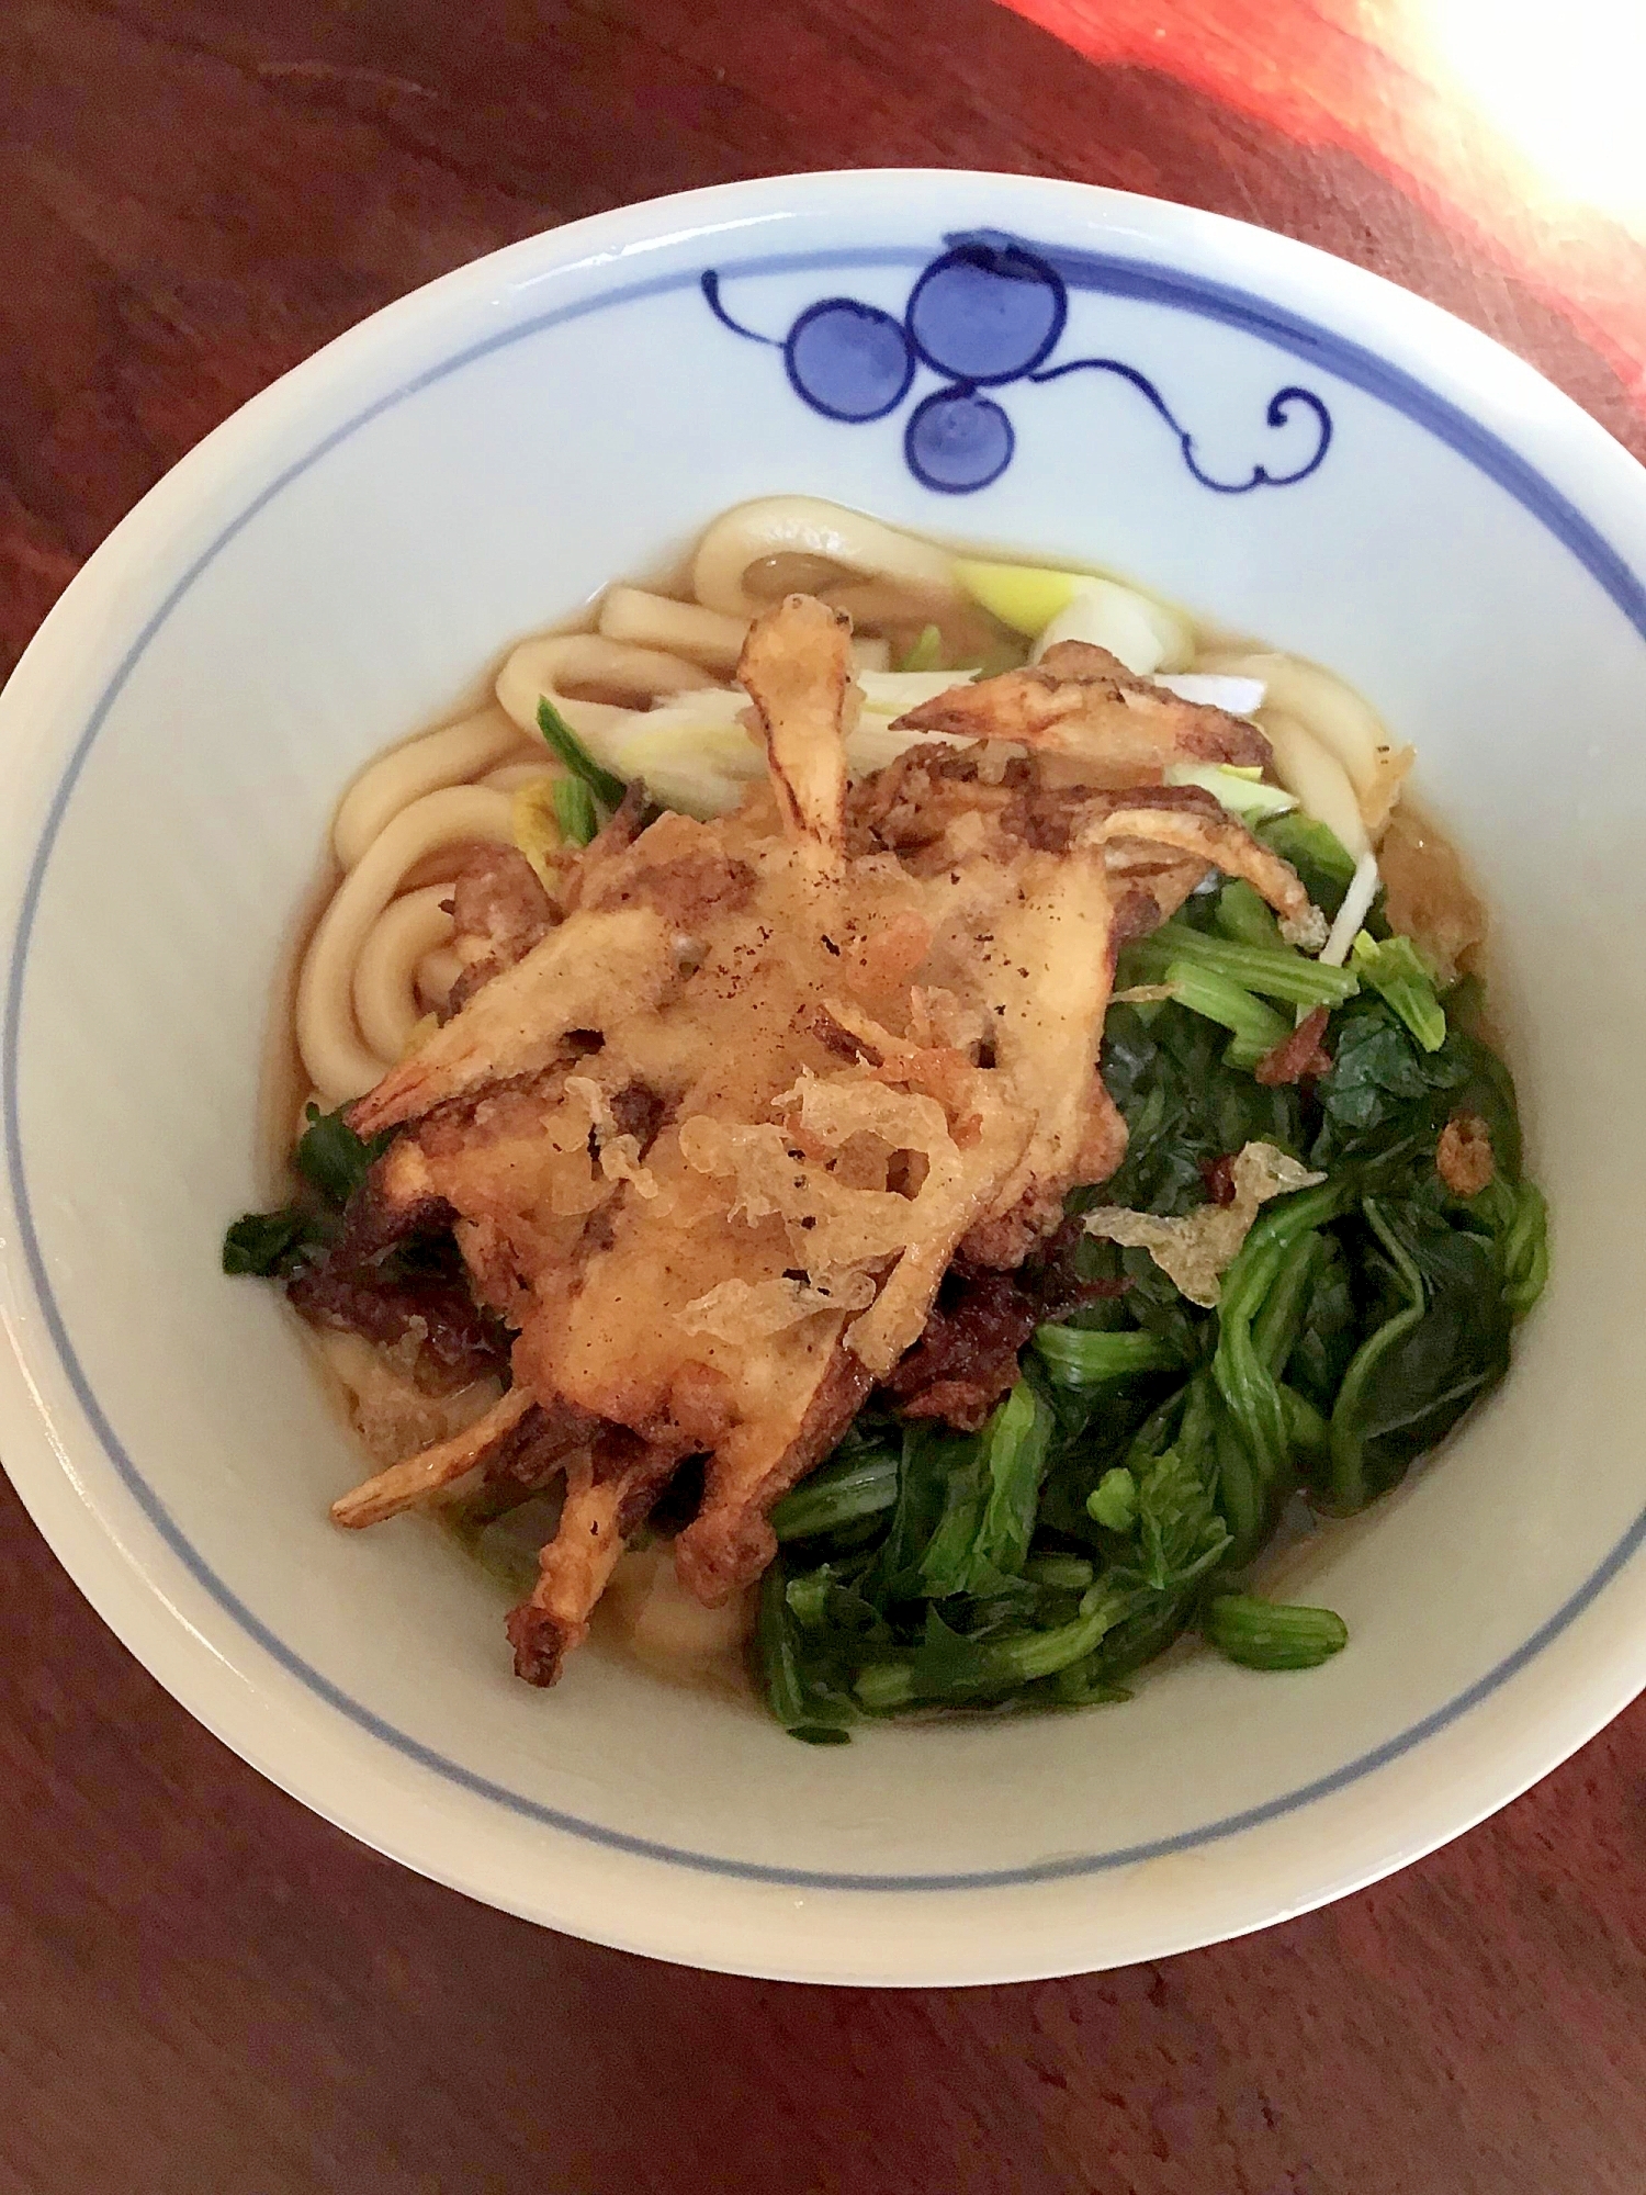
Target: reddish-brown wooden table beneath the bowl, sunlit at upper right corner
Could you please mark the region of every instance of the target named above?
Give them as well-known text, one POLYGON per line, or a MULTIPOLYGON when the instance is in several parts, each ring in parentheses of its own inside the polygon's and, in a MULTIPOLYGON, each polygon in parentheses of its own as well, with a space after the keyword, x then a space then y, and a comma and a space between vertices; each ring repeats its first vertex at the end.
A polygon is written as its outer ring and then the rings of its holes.
MULTIPOLYGON (((1637 11, 1018 4, 11 0, 0 669, 173 459, 351 320, 553 222, 773 169, 1031 169, 1264 222, 1477 320, 1646 454, 1637 11)), ((1646 1706, 1249 1943, 974 1993, 735 1982, 505 1921, 316 1822, 2 1508, 4 2195, 1646 2184, 1646 1706)))

